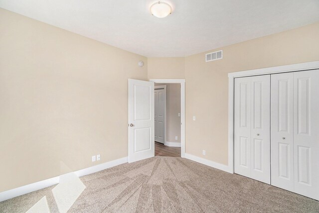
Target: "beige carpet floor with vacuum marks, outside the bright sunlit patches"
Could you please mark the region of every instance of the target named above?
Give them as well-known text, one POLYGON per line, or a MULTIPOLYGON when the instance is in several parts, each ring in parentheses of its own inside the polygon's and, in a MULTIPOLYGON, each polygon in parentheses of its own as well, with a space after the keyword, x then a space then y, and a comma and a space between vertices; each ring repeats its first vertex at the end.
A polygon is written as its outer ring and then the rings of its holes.
MULTIPOLYGON (((178 157, 154 157, 80 178, 86 186, 70 213, 319 213, 319 202, 178 157)), ((58 212, 54 186, 0 203, 26 212, 43 196, 58 212)))

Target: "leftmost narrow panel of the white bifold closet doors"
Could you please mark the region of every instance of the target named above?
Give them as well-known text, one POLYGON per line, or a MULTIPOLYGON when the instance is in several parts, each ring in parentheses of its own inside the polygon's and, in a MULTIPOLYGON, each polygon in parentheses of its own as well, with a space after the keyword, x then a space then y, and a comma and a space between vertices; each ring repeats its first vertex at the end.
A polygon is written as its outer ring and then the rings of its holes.
POLYGON ((235 79, 234 170, 251 177, 251 77, 235 79))

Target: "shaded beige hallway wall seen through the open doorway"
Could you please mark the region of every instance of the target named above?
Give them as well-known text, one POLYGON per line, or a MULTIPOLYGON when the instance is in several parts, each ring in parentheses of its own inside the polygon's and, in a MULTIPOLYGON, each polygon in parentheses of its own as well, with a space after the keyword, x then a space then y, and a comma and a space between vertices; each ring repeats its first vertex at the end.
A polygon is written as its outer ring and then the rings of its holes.
POLYGON ((180 84, 160 85, 166 85, 166 141, 180 143, 180 84))

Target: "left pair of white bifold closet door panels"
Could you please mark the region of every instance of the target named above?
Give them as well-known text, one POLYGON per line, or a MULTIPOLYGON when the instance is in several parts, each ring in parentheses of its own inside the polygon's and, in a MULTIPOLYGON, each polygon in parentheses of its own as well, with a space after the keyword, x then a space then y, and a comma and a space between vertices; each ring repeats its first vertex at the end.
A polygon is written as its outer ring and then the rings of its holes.
POLYGON ((234 171, 270 184, 270 75, 235 79, 234 171))

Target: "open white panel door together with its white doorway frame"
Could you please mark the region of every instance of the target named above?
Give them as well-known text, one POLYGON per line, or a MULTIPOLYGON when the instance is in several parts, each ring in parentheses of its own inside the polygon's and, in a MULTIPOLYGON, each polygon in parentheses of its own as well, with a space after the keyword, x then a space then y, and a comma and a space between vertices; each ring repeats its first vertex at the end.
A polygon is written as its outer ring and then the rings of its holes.
POLYGON ((154 83, 180 85, 180 156, 185 157, 185 80, 128 81, 128 161, 155 156, 154 83))

